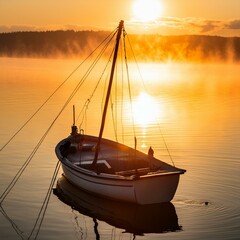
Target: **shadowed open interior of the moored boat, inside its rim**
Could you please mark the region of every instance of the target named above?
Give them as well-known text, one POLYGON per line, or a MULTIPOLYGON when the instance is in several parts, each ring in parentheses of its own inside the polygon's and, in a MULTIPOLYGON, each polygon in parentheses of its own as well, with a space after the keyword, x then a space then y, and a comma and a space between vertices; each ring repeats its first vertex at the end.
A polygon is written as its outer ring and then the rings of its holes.
MULTIPOLYGON (((71 142, 65 142, 61 153, 74 166, 87 170, 92 169, 92 162, 95 155, 95 139, 74 138, 71 142)), ((99 173, 115 174, 121 176, 156 174, 160 172, 176 171, 171 165, 168 165, 153 156, 139 152, 133 148, 122 144, 103 141, 96 171, 99 173)))

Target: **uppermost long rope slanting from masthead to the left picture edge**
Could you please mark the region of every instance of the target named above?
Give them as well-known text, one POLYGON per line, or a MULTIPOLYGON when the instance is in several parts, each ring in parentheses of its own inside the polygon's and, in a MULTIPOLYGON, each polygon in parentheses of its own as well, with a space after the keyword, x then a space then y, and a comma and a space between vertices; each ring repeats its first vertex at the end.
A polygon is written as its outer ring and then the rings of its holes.
POLYGON ((37 113, 48 103, 48 101, 58 92, 58 90, 72 77, 72 75, 97 51, 97 49, 112 35, 112 31, 70 74, 69 76, 53 91, 53 93, 40 105, 40 107, 30 116, 30 118, 10 137, 10 139, 0 148, 0 152, 22 131, 22 129, 37 115, 37 113))

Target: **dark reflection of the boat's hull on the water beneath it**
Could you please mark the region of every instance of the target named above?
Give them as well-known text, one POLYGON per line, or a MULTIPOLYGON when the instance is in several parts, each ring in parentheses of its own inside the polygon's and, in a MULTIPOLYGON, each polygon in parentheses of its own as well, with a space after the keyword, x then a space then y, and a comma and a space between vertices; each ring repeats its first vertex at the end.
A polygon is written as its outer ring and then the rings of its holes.
POLYGON ((104 199, 76 188, 64 176, 58 179, 54 194, 95 222, 104 221, 134 235, 181 230, 175 207, 170 202, 138 205, 104 199))

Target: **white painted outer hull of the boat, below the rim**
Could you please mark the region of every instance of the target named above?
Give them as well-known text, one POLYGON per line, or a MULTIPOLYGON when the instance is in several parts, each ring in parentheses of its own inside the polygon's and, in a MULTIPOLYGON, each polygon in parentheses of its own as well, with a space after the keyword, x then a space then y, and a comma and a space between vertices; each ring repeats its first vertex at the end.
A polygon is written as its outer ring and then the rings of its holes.
MULTIPOLYGON (((59 152, 56 150, 59 157, 59 152)), ((59 159, 66 178, 77 187, 106 198, 137 204, 170 202, 183 171, 156 172, 140 176, 96 173, 59 159)))

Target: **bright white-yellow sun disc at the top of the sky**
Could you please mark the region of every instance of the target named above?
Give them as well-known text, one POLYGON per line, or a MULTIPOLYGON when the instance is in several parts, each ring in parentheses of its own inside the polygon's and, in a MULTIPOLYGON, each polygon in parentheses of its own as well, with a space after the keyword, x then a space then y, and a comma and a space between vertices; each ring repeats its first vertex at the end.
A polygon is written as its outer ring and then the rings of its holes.
POLYGON ((135 0, 133 4, 134 18, 141 22, 157 20, 163 11, 160 0, 135 0))

